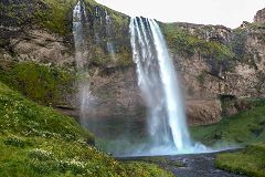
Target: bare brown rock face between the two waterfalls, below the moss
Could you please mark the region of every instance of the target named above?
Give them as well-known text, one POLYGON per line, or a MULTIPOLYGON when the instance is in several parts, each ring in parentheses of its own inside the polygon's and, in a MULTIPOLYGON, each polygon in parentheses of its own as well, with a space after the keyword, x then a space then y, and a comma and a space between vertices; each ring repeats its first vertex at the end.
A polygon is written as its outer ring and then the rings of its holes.
MULTIPOLYGON (((106 71, 105 71, 106 72, 106 71)), ((145 117, 145 103, 135 67, 95 74, 92 82, 94 117, 145 117)))

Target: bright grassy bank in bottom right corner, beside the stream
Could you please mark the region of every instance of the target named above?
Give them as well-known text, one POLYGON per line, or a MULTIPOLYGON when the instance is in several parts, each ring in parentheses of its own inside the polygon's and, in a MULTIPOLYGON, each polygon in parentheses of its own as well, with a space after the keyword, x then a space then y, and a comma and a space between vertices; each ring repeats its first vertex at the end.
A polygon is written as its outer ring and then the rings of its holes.
POLYGON ((218 155, 215 166, 253 177, 265 176, 265 144, 253 144, 237 153, 218 155))

